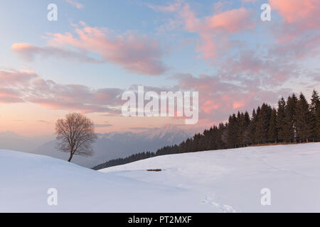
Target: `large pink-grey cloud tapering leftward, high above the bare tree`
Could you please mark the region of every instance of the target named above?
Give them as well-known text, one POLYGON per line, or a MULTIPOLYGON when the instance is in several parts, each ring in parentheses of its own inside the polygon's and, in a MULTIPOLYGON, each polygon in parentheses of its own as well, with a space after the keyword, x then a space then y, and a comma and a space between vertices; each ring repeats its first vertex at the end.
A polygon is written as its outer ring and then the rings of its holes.
POLYGON ((125 70, 137 74, 159 75, 166 71, 161 61, 159 43, 146 35, 127 32, 112 37, 107 28, 76 28, 78 38, 70 33, 53 34, 53 45, 71 45, 100 54, 106 62, 121 65, 125 70))

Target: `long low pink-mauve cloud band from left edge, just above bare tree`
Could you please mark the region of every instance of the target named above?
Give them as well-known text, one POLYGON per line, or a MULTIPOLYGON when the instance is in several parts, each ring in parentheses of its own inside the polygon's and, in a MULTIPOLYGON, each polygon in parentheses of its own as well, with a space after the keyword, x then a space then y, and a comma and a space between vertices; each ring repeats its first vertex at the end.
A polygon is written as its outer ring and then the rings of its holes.
POLYGON ((0 70, 0 102, 31 102, 50 109, 82 113, 120 114, 122 89, 90 89, 80 84, 57 84, 37 74, 0 70))

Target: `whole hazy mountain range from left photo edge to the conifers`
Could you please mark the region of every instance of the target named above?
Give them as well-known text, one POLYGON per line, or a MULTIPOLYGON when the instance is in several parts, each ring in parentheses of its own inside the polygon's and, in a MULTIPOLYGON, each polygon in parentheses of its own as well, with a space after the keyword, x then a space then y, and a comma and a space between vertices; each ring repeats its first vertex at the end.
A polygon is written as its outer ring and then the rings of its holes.
MULTIPOLYGON (((93 167, 107 160, 127 157, 134 153, 154 152, 163 146, 181 143, 191 135, 191 133, 171 125, 164 128, 146 129, 138 133, 117 132, 98 134, 98 139, 93 145, 95 150, 94 155, 91 157, 75 156, 72 162, 83 167, 93 167)), ((69 154, 58 151, 55 148, 56 143, 54 135, 46 138, 31 139, 10 132, 0 134, 0 149, 21 150, 68 160, 69 154), (43 140, 46 140, 46 143, 43 140)))

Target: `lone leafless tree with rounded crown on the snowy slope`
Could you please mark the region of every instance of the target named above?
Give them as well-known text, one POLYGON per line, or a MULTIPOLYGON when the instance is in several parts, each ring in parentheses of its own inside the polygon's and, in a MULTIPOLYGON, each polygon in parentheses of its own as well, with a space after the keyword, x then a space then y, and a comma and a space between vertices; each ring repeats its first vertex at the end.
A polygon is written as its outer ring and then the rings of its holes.
POLYGON ((67 114, 65 119, 55 123, 55 134, 58 140, 58 149, 70 153, 68 162, 73 155, 91 156, 91 144, 97 139, 94 123, 83 114, 67 114))

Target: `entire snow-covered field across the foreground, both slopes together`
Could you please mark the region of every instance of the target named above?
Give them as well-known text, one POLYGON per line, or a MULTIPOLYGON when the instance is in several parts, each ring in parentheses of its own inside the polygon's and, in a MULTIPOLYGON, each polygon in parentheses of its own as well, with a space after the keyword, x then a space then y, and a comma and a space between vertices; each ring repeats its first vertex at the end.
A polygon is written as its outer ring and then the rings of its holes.
POLYGON ((320 212, 320 143, 166 155, 100 172, 0 150, 0 211, 320 212), (58 206, 47 204, 50 188, 58 206), (271 206, 261 204, 264 188, 271 206))

